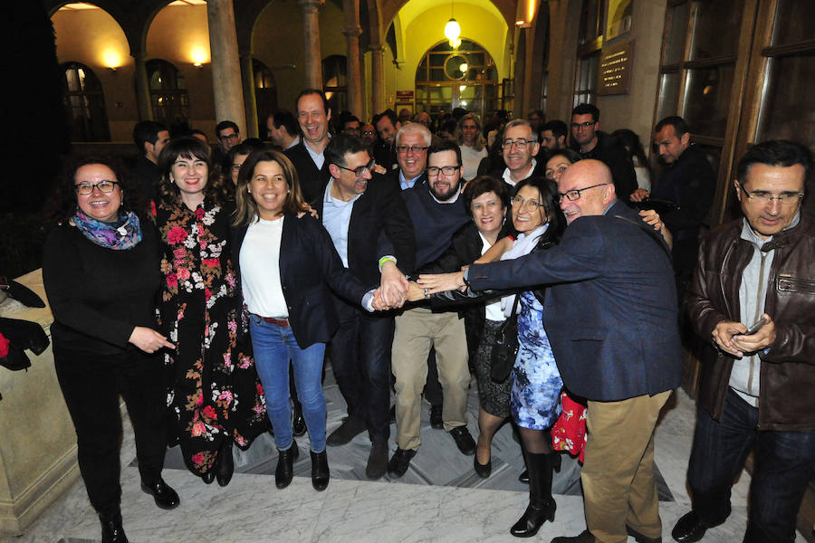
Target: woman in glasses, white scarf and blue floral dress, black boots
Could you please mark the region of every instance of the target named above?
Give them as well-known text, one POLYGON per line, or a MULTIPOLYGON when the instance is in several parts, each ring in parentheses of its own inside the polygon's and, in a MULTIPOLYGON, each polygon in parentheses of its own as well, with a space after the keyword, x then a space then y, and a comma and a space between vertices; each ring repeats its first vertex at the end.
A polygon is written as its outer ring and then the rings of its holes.
MULTIPOLYGON (((479 262, 508 260, 558 243, 565 220, 558 205, 557 186, 548 179, 529 177, 517 185, 512 198, 513 226, 519 233, 495 243, 479 262), (485 260, 484 260, 485 259, 485 260)), ((420 275, 418 284, 427 294, 452 291, 463 284, 463 272, 420 275)), ((510 374, 510 408, 521 433, 523 454, 529 471, 529 505, 510 533, 519 538, 534 536, 545 520, 554 520, 556 504, 551 496, 552 461, 548 430, 561 413, 563 382, 542 325, 542 291, 523 291, 502 300, 509 317, 518 297, 518 356, 510 374)))

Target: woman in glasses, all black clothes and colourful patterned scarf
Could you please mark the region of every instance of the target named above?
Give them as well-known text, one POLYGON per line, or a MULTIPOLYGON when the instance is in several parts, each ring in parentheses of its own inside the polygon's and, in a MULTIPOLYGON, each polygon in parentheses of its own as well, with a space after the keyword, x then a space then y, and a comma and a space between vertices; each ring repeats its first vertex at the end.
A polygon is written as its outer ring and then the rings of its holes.
POLYGON ((121 523, 119 395, 136 435, 141 489, 162 509, 178 495, 161 478, 167 449, 157 330, 158 233, 120 164, 87 157, 68 168, 53 201, 58 226, 43 252, 57 378, 77 434, 77 460, 104 542, 121 523))

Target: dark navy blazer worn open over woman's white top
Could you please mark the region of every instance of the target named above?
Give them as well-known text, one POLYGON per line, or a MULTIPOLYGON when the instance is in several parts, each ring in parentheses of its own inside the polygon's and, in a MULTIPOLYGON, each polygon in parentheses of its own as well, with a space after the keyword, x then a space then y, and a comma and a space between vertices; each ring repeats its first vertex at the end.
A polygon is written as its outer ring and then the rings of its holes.
MULTIPOLYGON (((240 271, 241 245, 248 228, 237 226, 232 229, 236 271, 240 271)), ((309 214, 300 219, 293 214, 283 216, 279 265, 283 298, 289 309, 289 325, 300 348, 327 343, 340 327, 331 291, 359 305, 365 293, 374 288, 365 286, 345 269, 331 236, 309 214)))

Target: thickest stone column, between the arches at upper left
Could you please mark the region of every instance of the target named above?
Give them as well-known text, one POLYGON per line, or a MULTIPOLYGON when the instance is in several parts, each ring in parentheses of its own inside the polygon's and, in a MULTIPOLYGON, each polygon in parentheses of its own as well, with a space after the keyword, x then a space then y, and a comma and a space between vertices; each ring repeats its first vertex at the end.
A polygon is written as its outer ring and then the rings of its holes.
POLYGON ((232 0, 207 0, 206 20, 209 24, 209 51, 212 55, 212 91, 216 107, 216 122, 235 121, 246 133, 244 90, 235 33, 235 10, 232 0))

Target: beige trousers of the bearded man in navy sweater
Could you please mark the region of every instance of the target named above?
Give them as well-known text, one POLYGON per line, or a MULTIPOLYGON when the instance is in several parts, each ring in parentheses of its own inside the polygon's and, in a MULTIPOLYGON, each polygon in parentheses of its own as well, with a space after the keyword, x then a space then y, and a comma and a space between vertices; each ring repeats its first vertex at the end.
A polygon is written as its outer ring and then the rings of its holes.
POLYGON ((397 445, 417 450, 421 443, 422 389, 427 381, 427 356, 436 348, 438 381, 445 401, 445 430, 467 424, 467 341, 464 319, 456 313, 433 313, 426 308, 407 310, 396 318, 391 369, 396 377, 397 445))

